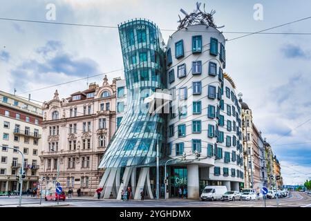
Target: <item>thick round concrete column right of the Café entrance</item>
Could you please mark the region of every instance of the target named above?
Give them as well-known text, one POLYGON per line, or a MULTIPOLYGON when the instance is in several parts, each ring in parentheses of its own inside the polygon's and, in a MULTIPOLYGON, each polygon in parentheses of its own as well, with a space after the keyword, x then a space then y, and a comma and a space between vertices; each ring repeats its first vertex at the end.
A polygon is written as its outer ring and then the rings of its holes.
POLYGON ((188 164, 187 165, 187 192, 189 199, 199 199, 199 173, 198 164, 188 164))

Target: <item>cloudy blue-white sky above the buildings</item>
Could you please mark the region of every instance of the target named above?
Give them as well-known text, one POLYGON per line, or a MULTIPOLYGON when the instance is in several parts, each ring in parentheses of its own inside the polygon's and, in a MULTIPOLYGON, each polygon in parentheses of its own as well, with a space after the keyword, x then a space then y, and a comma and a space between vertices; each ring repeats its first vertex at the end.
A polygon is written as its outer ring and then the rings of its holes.
MULTIPOLYGON (((160 29, 176 30, 180 8, 194 10, 196 1, 151 0, 2 0, 0 17, 46 20, 46 6, 55 4, 56 20, 117 26, 128 19, 146 18, 160 29)), ((215 23, 225 32, 255 32, 310 17, 308 0, 209 0, 206 10, 216 10, 215 23), (263 6, 263 21, 256 21, 254 4, 263 6)), ((310 32, 311 19, 269 32, 310 32)), ((0 20, 0 90, 24 93, 44 86, 107 74, 122 76, 122 56, 117 28, 91 28, 0 20)), ((167 41, 172 31, 162 31, 167 41)), ((227 39, 241 34, 225 34, 227 39)), ((254 122, 267 137, 282 166, 285 184, 311 177, 311 35, 252 35, 228 41, 226 72, 253 111, 254 122)), ((102 84, 102 77, 88 82, 102 84)), ((32 99, 61 97, 86 88, 86 80, 37 90, 32 99)))

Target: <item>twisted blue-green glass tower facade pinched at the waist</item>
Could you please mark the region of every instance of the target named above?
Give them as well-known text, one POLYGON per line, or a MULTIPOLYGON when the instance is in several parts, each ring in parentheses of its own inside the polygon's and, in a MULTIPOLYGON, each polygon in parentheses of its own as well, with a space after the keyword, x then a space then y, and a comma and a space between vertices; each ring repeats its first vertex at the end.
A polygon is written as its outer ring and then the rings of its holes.
POLYGON ((165 88, 164 43, 158 27, 146 20, 121 23, 119 28, 127 106, 100 168, 148 166, 156 162, 156 144, 164 156, 164 115, 148 113, 144 99, 165 88))

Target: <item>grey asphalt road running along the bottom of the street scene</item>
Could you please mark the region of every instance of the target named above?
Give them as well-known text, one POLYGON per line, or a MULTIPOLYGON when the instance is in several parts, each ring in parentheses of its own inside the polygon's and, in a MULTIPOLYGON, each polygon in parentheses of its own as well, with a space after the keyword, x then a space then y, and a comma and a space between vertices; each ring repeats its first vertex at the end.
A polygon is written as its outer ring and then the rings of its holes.
MULTIPOLYGON (((17 206, 18 198, 0 197, 0 206, 17 206)), ((22 204, 25 206, 39 206, 39 199, 23 198, 22 204)), ((55 202, 42 201, 42 206, 55 206, 55 202)), ((169 199, 164 200, 130 200, 129 202, 122 202, 121 200, 86 200, 68 199, 65 202, 59 202, 59 206, 67 207, 263 207, 263 200, 222 202, 222 201, 201 201, 201 200, 180 200, 169 199)), ((267 207, 276 207, 276 200, 266 200, 267 207)), ((281 207, 311 207, 311 195, 299 192, 291 192, 287 198, 279 199, 279 206, 281 207)))

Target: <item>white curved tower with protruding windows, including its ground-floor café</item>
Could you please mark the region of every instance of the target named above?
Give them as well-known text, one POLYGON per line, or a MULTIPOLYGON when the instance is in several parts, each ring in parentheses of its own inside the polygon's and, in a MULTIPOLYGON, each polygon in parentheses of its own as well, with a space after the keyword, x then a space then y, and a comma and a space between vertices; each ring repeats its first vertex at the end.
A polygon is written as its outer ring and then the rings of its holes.
POLYGON ((191 25, 169 38, 167 155, 189 155, 168 169, 169 197, 187 189, 188 198, 199 198, 207 184, 243 186, 241 106, 224 68, 225 37, 216 28, 191 25))

